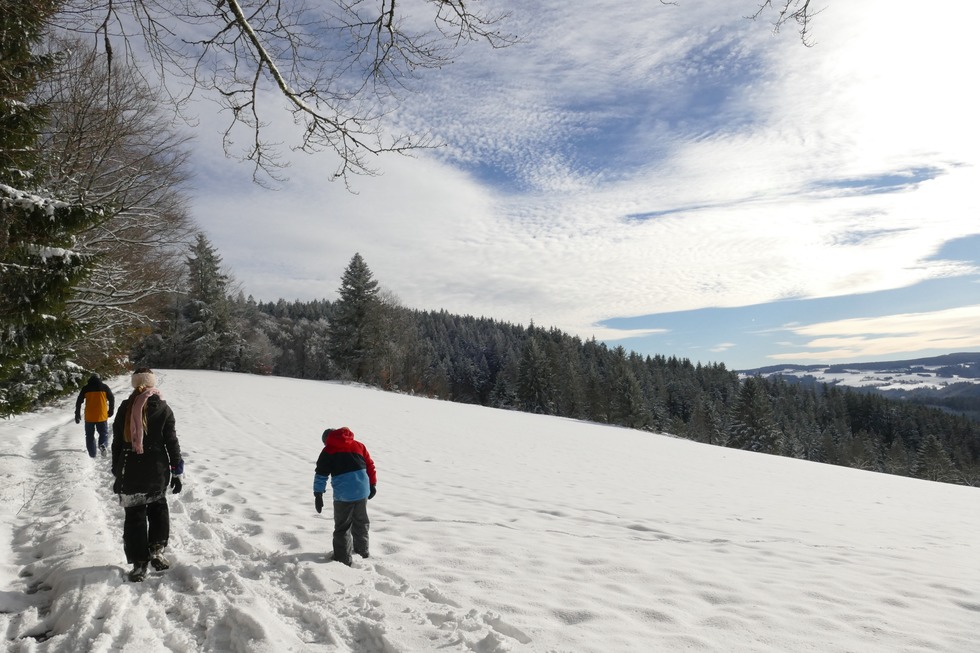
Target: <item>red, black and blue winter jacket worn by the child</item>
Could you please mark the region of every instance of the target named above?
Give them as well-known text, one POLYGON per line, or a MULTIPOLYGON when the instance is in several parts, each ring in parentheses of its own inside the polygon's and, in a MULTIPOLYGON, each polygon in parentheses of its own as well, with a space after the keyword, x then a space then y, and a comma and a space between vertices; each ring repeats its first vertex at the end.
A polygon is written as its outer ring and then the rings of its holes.
POLYGON ((378 477, 367 447, 354 439, 349 428, 341 427, 327 434, 323 451, 316 461, 313 492, 327 489, 327 478, 334 501, 361 501, 371 493, 378 477))

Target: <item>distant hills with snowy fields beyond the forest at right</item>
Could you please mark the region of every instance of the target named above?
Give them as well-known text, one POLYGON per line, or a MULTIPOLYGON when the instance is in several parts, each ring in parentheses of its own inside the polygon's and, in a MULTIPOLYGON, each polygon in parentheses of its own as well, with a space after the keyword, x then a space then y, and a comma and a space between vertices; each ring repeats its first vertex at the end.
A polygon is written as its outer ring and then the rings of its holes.
POLYGON ((769 365, 741 376, 780 376, 804 385, 841 385, 963 413, 980 420, 980 352, 875 363, 769 365))

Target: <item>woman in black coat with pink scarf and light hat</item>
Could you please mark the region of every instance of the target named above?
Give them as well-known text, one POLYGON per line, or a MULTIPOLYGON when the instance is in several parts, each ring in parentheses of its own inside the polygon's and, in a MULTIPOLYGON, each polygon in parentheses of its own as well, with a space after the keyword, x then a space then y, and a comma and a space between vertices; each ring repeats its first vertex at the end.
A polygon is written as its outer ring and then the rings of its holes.
POLYGON ((146 578, 147 565, 170 568, 163 550, 170 539, 167 488, 181 490, 184 460, 174 413, 156 387, 148 368, 133 374, 133 393, 122 402, 112 422, 112 491, 126 509, 123 550, 133 564, 129 578, 146 578))

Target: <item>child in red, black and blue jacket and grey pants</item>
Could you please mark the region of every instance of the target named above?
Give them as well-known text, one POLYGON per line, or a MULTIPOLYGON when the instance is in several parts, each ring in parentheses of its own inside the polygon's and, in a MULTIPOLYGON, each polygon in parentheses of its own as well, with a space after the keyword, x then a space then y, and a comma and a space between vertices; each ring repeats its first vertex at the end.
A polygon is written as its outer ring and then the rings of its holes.
POLYGON ((368 557, 367 502, 377 493, 378 478, 367 447, 346 426, 323 432, 323 451, 313 476, 313 505, 323 510, 327 478, 333 490, 333 559, 351 564, 351 549, 368 557))

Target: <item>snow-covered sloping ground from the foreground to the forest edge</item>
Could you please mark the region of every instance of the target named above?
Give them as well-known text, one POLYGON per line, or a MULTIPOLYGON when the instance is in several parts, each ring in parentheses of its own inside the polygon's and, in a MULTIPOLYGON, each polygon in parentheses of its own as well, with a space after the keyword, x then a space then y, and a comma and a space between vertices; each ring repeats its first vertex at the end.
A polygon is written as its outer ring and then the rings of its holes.
MULTIPOLYGON (((124 580, 72 401, 0 422, 7 651, 980 650, 980 491, 333 383, 158 372, 174 568, 124 580), (378 466, 328 562, 325 427, 378 466)), ((114 379, 119 400, 126 378, 114 379)))

